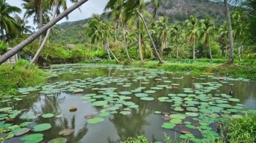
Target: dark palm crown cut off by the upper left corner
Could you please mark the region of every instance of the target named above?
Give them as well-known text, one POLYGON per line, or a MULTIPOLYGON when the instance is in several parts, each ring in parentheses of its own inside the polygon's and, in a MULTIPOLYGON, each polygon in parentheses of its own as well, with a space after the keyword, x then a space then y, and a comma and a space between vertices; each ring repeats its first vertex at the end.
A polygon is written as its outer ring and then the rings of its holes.
POLYGON ((20 8, 10 6, 5 0, 0 0, 0 34, 3 41, 5 41, 4 34, 8 36, 8 34, 19 33, 19 24, 15 22, 14 17, 11 15, 20 12, 20 8))

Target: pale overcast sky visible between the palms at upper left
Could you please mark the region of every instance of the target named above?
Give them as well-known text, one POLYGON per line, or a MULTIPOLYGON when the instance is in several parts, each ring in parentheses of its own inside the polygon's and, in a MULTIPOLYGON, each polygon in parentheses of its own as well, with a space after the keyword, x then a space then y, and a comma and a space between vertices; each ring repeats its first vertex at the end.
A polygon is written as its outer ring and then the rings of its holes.
MULTIPOLYGON (((67 0, 68 1, 68 0, 67 0)), ((72 13, 68 15, 68 21, 76 21, 76 20, 82 20, 86 19, 88 17, 91 17, 93 13, 101 14, 103 12, 104 6, 108 0, 89 0, 86 3, 84 3, 81 7, 80 10, 74 10, 72 13)), ((11 6, 17 6, 20 9, 22 9, 22 1, 21 0, 6 0, 6 3, 10 4, 11 6)), ((67 2, 68 7, 72 6, 72 3, 70 1, 67 2)), ((20 17, 23 17, 24 9, 22 10, 22 13, 19 14, 20 17)), ((29 25, 33 26, 33 20, 29 20, 29 25)), ((65 18, 60 20, 60 22, 65 22, 67 21, 65 18)))

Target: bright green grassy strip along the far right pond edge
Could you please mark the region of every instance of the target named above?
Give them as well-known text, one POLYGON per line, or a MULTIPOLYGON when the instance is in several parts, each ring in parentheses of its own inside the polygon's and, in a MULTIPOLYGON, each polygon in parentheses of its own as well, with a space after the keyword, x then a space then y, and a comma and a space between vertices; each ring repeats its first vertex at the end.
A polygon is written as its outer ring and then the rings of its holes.
MULTIPOLYGON (((115 61, 104 60, 100 63, 115 64, 115 61)), ((156 68, 170 72, 192 72, 192 73, 209 73, 220 76, 230 75, 232 77, 243 77, 256 79, 256 66, 227 65, 214 63, 164 63, 159 64, 157 61, 122 61, 118 64, 130 65, 140 68, 156 68)))

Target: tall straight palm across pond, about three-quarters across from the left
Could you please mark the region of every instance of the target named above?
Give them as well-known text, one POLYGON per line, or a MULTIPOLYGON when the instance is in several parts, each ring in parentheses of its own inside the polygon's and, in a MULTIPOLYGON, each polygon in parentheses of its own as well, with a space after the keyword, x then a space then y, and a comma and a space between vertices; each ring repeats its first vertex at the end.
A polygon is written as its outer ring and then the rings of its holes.
POLYGON ((187 24, 189 43, 193 43, 193 59, 195 59, 195 41, 199 36, 198 19, 196 19, 195 15, 191 15, 185 22, 187 24))

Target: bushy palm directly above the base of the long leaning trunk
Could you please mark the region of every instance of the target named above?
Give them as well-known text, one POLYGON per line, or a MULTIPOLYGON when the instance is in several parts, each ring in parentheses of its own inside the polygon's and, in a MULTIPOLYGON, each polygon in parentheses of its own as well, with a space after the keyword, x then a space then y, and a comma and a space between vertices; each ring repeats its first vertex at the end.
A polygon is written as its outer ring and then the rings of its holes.
MULTIPOLYGON (((170 28, 168 26, 168 17, 159 17, 154 26, 157 32, 157 36, 162 40, 163 49, 166 49, 167 38, 170 36, 170 28)), ((162 50, 163 50, 162 49, 162 50)))

